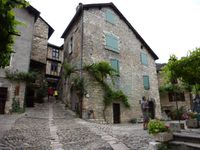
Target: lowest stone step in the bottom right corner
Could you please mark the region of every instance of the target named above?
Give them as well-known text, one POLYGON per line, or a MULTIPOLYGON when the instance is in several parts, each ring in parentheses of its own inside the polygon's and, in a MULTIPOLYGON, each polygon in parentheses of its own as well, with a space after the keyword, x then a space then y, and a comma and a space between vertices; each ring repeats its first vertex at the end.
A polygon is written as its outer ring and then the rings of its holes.
POLYGON ((199 150, 200 143, 191 143, 183 141, 171 141, 170 146, 176 150, 199 150))

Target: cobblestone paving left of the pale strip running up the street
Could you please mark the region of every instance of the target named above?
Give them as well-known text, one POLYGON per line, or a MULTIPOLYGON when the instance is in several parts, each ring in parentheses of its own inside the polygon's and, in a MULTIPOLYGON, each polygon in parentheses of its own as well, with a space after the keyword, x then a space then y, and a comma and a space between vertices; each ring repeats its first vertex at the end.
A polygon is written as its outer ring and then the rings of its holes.
POLYGON ((46 107, 40 105, 28 112, 28 115, 16 120, 11 130, 6 131, 3 138, 0 139, 0 149, 50 149, 48 119, 47 116, 42 115, 46 110, 46 107))

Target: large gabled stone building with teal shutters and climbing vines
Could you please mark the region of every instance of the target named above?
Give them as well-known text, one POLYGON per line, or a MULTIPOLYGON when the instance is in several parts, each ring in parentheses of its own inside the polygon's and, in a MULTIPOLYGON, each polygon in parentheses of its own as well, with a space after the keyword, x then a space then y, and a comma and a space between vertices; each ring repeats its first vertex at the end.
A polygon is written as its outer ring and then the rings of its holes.
MULTIPOLYGON (((129 99, 130 109, 116 101, 106 110, 109 123, 127 122, 142 116, 142 96, 154 100, 155 116, 160 118, 160 98, 155 60, 157 55, 148 46, 113 3, 79 4, 70 24, 64 31, 64 61, 81 69, 85 64, 107 61, 120 77, 116 88, 129 99)), ((76 110, 82 105, 82 117, 103 119, 103 90, 88 74, 83 101, 70 89, 70 81, 62 78, 61 97, 66 105, 76 110), (90 113, 93 113, 90 116, 90 113)))

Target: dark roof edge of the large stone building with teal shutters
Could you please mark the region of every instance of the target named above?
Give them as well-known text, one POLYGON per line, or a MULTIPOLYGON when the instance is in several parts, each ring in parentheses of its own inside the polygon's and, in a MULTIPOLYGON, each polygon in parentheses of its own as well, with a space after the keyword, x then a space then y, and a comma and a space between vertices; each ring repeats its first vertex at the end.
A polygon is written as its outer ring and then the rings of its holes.
POLYGON ((98 4, 82 4, 80 3, 77 7, 76 14, 72 18, 71 22, 65 29, 64 33, 62 34, 61 38, 66 37, 66 35, 71 30, 74 23, 79 19, 80 15, 82 14, 83 10, 87 10, 89 8, 102 8, 102 7, 110 7, 112 8, 116 14, 119 15, 119 17, 128 25, 128 27, 133 31, 133 33, 136 35, 136 38, 143 44, 143 46, 149 51, 149 53, 153 56, 153 58, 156 60, 158 59, 158 56, 153 52, 153 50, 149 47, 149 45, 144 41, 144 39, 139 35, 139 33, 133 28, 133 26, 129 23, 129 21, 123 16, 123 14, 117 9, 117 7, 111 2, 111 3, 98 3, 98 4))

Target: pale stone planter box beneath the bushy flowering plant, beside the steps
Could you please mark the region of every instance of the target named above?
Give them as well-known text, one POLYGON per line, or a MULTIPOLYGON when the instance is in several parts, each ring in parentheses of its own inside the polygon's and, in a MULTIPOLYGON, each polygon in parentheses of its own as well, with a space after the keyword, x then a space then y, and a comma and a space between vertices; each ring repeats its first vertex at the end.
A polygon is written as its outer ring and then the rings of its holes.
POLYGON ((154 139, 157 142, 167 142, 173 139, 172 132, 160 132, 154 135, 154 139))

